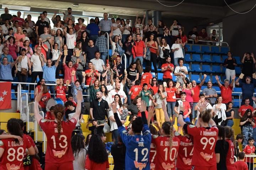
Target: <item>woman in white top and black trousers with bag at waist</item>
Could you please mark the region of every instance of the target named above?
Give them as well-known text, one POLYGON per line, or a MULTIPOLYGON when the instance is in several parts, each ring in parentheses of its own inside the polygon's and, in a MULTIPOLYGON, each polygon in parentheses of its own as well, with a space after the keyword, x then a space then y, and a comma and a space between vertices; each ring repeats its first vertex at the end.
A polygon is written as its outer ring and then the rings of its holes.
MULTIPOLYGON (((15 64, 15 73, 17 74, 18 81, 22 83, 27 82, 28 73, 31 75, 30 58, 26 56, 26 49, 21 50, 21 55, 17 58, 18 63, 15 64)), ((22 89, 26 90, 27 85, 22 84, 22 89)))

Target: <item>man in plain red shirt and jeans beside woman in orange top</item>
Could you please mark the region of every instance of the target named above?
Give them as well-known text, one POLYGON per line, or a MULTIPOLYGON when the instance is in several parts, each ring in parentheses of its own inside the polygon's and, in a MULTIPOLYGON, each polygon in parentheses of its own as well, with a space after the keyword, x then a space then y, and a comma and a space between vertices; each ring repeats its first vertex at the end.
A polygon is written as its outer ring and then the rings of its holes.
POLYGON ((146 57, 146 45, 145 42, 140 39, 140 34, 136 34, 136 40, 132 42, 132 53, 134 61, 139 58, 140 62, 143 63, 143 58, 146 57))

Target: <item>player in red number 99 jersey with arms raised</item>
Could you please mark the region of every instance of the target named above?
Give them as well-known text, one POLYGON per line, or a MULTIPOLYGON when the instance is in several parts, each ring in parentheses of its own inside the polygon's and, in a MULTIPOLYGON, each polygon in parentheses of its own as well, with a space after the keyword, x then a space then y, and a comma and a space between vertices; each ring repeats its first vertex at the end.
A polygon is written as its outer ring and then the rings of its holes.
POLYGON ((194 151, 192 165, 194 170, 216 170, 216 156, 214 148, 218 136, 218 128, 212 119, 212 109, 207 109, 207 102, 199 104, 199 118, 196 126, 183 121, 183 108, 180 107, 178 123, 193 136, 194 151), (210 125, 210 127, 209 127, 210 125))

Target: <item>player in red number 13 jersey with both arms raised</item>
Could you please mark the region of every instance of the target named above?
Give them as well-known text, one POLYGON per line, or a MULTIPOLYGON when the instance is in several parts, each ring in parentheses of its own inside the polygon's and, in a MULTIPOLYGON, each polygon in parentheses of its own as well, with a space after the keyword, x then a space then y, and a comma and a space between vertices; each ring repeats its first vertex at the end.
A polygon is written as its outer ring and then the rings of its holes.
POLYGON ((39 114, 38 102, 40 101, 42 92, 35 98, 34 115, 37 123, 41 126, 47 137, 47 150, 45 158, 45 169, 73 170, 73 152, 70 146, 71 134, 75 129, 76 122, 81 113, 82 92, 78 91, 76 96, 78 105, 76 112, 69 121, 63 121, 65 108, 61 104, 54 106, 54 121, 47 121, 39 114))

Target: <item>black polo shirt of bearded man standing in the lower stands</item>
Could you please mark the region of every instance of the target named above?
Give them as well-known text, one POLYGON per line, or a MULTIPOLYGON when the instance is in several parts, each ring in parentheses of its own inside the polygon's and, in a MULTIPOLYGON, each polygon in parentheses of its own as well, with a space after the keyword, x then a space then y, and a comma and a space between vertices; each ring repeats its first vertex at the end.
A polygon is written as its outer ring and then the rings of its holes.
POLYGON ((106 115, 106 109, 109 109, 108 102, 101 100, 100 102, 95 99, 91 102, 90 108, 93 108, 92 115, 96 120, 104 120, 106 115))

